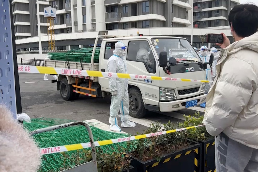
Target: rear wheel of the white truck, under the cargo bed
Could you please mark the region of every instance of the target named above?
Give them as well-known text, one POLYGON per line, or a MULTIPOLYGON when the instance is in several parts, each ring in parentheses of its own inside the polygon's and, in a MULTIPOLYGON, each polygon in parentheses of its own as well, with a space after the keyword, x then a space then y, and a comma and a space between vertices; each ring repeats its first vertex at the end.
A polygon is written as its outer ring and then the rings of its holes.
POLYGON ((68 84, 68 81, 66 78, 63 78, 60 81, 60 95, 62 98, 66 101, 73 99, 73 91, 72 91, 72 85, 68 84))

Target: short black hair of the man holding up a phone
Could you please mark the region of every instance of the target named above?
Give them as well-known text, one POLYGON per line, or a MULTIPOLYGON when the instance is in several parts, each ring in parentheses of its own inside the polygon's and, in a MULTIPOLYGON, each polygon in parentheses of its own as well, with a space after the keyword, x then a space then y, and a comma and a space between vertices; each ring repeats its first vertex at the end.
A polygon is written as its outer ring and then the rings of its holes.
POLYGON ((250 36, 258 29, 258 7, 254 4, 236 5, 228 15, 228 22, 237 36, 250 36))

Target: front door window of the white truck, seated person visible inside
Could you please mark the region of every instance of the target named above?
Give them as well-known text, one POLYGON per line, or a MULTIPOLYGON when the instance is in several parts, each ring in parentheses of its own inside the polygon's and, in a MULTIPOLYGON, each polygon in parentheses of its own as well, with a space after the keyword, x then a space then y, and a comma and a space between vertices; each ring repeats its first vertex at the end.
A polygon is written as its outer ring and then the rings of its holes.
POLYGON ((148 41, 130 41, 127 60, 143 63, 149 73, 156 73, 156 62, 148 41))

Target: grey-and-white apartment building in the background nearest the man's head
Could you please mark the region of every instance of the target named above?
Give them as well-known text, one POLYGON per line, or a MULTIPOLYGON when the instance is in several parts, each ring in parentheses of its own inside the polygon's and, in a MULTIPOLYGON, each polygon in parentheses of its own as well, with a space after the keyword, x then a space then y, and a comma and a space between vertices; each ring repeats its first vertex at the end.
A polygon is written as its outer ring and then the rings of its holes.
POLYGON ((228 26, 230 10, 238 0, 193 0, 193 27, 228 26))

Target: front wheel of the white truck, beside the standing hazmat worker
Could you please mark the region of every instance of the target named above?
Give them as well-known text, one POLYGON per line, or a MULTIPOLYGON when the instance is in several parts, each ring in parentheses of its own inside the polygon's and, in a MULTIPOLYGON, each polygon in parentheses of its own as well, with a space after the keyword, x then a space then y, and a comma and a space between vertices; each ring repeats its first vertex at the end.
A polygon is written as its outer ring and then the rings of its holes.
POLYGON ((129 115, 134 118, 142 118, 147 110, 143 106, 142 94, 136 88, 130 88, 129 92, 129 115))

